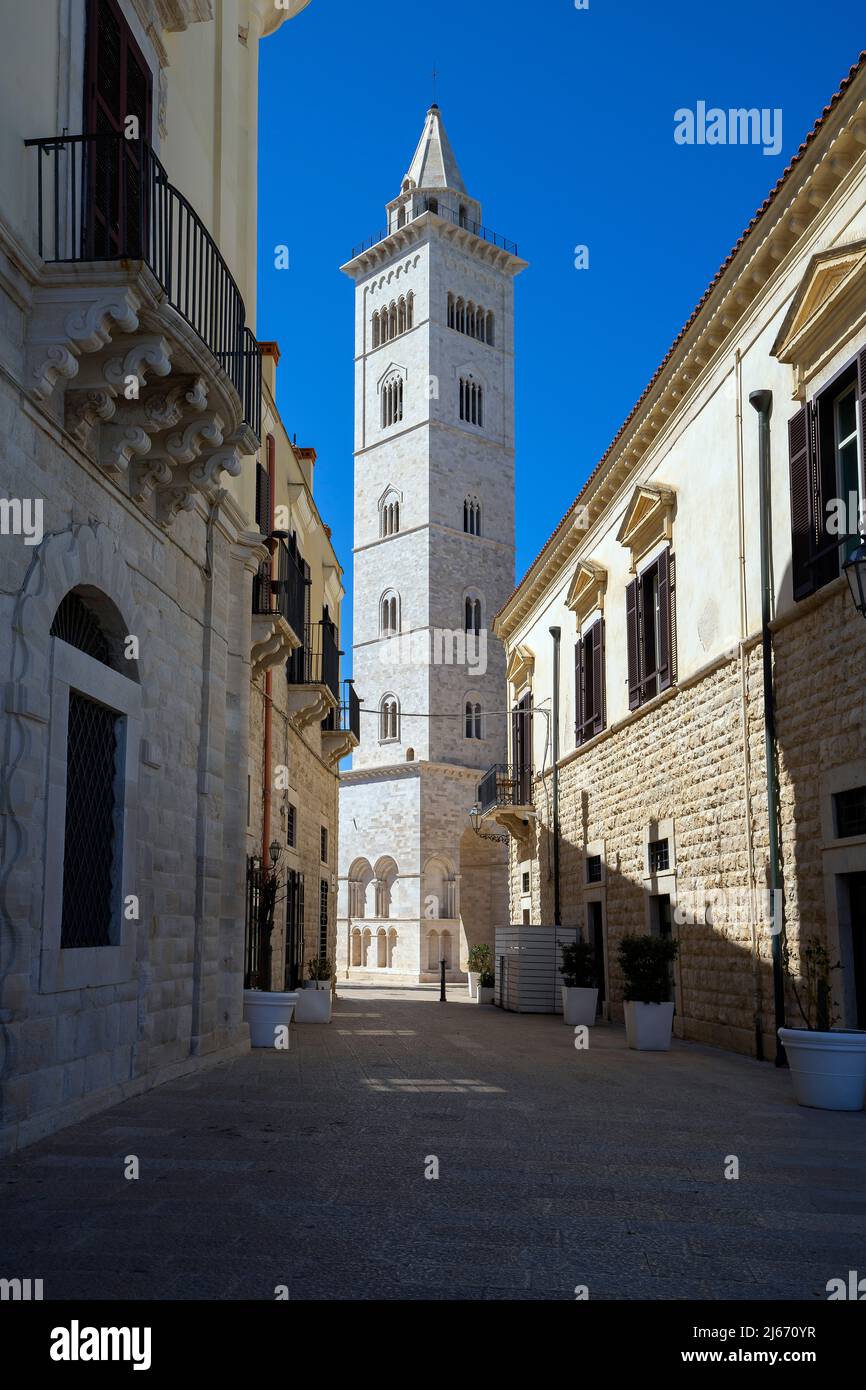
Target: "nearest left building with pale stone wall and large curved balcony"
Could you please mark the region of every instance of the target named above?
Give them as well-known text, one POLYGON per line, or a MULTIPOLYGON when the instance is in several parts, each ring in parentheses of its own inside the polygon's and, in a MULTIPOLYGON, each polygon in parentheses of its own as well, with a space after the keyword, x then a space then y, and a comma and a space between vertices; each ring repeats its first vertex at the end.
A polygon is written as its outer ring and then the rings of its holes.
POLYGON ((4 1150, 249 1045, 257 63, 304 3, 4 26, 4 1150))

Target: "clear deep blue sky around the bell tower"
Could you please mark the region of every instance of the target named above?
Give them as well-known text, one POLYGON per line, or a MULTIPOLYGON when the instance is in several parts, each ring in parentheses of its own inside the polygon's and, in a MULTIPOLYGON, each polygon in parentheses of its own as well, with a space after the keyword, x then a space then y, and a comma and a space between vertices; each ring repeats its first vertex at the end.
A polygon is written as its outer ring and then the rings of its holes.
POLYGON ((520 577, 865 46, 862 0, 313 0, 263 43, 257 331, 284 353, 286 428, 318 452, 349 598, 353 293, 339 265, 399 192, 434 64, 467 189, 530 261, 520 577), (781 108, 781 152, 677 145, 674 111, 699 100, 781 108))

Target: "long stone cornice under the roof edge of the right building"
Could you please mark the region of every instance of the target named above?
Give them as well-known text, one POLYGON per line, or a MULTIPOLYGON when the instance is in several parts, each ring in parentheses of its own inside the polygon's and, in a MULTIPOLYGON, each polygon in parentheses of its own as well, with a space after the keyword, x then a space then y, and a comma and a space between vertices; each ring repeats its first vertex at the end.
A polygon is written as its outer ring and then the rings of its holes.
POLYGON ((866 68, 860 67, 738 242, 570 512, 496 614, 493 631, 503 641, 562 580, 578 548, 588 553, 587 541, 612 499, 635 477, 671 420, 731 349, 755 306, 787 272, 803 234, 824 215, 849 175, 862 171, 865 147, 866 68))

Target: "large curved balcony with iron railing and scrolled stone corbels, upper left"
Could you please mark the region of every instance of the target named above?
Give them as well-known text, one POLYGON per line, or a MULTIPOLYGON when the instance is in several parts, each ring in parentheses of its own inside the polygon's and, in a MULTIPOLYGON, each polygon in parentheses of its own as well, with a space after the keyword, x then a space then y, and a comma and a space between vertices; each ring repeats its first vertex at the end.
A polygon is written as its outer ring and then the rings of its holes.
POLYGON ((33 395, 160 525, 259 445, 261 357, 240 291, 145 140, 28 140, 38 250, 33 395))

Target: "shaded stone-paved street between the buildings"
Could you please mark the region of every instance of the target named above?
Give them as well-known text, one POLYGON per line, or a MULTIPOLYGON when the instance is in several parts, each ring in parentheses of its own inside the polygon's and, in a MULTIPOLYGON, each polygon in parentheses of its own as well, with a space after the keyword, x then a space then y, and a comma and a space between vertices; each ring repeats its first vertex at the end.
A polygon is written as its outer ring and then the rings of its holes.
POLYGON ((341 986, 288 1054, 4 1159, 0 1275, 46 1298, 813 1300, 866 1273, 866 1113, 449 992, 341 986))

